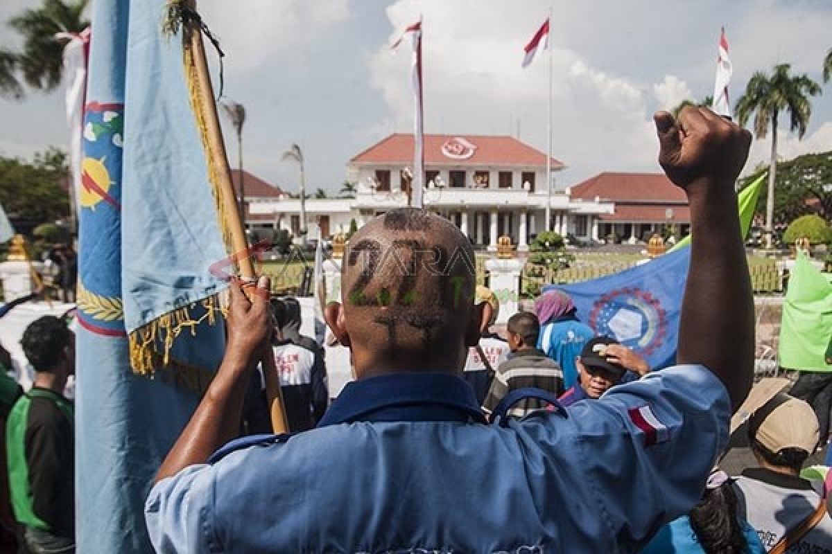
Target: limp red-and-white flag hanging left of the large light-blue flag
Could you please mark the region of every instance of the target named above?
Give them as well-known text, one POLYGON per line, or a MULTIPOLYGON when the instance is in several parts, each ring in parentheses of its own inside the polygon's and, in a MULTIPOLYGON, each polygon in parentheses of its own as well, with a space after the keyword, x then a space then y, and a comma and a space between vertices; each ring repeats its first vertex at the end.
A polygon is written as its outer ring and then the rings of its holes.
POLYGON ((84 104, 87 101, 87 59, 90 53, 90 36, 87 27, 80 33, 59 32, 58 40, 66 40, 63 47, 63 75, 67 82, 67 125, 69 126, 70 169, 72 170, 72 202, 77 202, 82 186, 82 134, 84 127, 84 104))

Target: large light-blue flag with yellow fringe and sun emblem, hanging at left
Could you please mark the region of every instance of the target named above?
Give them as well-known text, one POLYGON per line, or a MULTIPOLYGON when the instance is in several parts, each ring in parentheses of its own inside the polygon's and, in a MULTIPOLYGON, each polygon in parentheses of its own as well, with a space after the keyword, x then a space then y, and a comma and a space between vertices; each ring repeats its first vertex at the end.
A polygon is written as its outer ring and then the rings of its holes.
POLYGON ((224 348, 225 258, 166 0, 92 8, 78 192, 77 552, 152 552, 143 506, 224 348), (153 379, 151 379, 151 376, 153 379))

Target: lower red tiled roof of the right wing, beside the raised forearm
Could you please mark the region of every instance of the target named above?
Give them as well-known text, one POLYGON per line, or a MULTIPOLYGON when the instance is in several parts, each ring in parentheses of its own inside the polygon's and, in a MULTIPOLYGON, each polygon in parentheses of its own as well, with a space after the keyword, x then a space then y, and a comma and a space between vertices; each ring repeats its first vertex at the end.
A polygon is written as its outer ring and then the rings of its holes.
POLYGON ((602 201, 612 202, 687 203, 685 191, 661 173, 604 172, 572 186, 570 190, 573 199, 594 200, 599 197, 602 201))

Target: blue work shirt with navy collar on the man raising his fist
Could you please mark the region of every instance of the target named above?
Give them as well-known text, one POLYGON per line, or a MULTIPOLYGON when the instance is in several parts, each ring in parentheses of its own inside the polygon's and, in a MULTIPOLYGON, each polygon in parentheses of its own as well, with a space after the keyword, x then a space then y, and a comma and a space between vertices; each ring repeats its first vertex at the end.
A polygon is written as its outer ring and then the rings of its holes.
POLYGON ((729 419, 700 365, 505 427, 454 375, 382 375, 318 429, 162 479, 146 523, 158 552, 636 552, 699 500, 729 419))

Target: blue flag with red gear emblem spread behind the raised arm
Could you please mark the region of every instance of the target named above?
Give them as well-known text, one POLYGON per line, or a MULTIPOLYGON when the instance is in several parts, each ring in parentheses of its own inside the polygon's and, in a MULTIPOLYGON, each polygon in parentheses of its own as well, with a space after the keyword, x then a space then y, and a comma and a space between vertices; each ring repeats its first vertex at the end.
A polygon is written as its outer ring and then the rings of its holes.
POLYGON ((651 368, 676 360, 681 300, 691 248, 668 252, 641 266, 572 285, 549 285, 572 297, 577 317, 598 335, 611 336, 642 355, 651 368))

